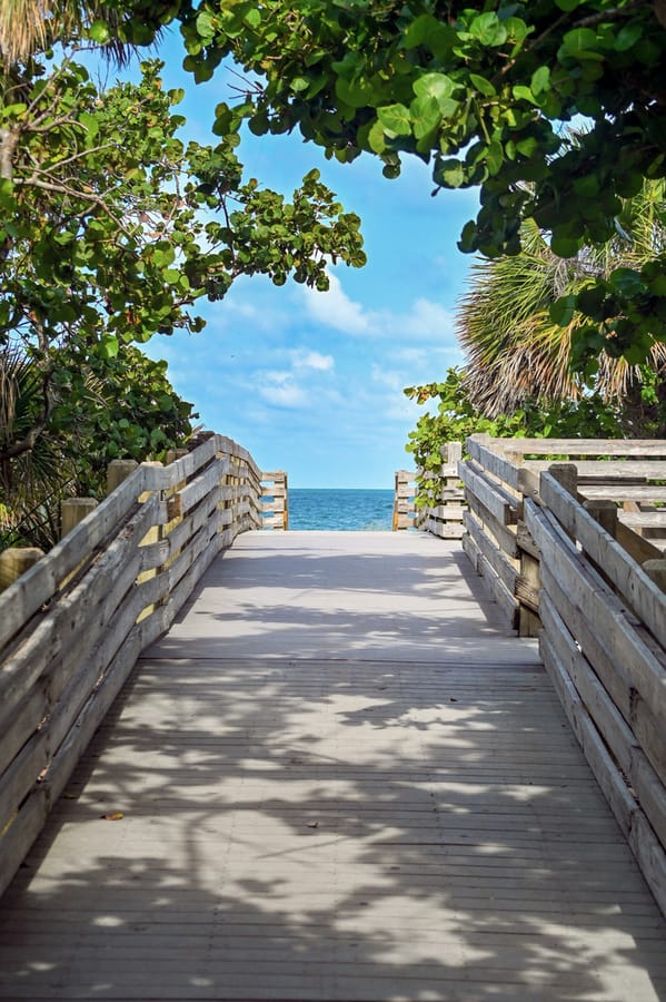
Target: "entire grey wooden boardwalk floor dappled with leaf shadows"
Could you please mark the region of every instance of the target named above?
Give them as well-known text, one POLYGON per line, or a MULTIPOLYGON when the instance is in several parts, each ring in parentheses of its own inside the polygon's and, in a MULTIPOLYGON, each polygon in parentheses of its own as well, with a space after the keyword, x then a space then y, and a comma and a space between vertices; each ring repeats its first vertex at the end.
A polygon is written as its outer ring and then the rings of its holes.
POLYGON ((458 543, 248 533, 0 902, 0 999, 647 1002, 666 924, 458 543))

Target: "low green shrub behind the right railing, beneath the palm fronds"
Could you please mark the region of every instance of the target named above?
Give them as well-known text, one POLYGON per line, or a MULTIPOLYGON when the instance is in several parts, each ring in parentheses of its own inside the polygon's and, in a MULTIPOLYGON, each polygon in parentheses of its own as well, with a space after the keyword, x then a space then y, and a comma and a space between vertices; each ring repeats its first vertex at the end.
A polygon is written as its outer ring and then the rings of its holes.
MULTIPOLYGON (((630 415, 615 404, 605 403, 598 393, 579 401, 526 401, 511 413, 489 418, 475 410, 461 369, 449 369, 444 382, 408 386, 405 395, 419 404, 437 402, 435 413, 418 419, 405 446, 414 455, 416 466, 431 473, 441 466, 443 445, 461 442, 465 448, 467 436, 473 434, 506 439, 616 439, 630 431, 630 415)), ((427 479, 419 482, 418 507, 427 507, 434 500, 427 479)))

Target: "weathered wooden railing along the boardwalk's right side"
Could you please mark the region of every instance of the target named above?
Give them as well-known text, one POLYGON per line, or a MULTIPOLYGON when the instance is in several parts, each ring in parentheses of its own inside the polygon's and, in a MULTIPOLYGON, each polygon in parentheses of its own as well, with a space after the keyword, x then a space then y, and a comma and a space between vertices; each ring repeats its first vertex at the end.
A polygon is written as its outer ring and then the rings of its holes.
POLYGON ((465 550, 508 621, 539 636, 666 913, 666 442, 475 435, 467 445, 465 550))

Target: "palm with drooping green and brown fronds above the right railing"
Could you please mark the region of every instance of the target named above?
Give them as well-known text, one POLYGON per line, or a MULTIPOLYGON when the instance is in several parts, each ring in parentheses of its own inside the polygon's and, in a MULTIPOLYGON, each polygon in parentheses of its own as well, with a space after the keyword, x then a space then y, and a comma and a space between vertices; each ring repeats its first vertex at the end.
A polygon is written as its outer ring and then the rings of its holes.
MULTIPOLYGON (((467 355, 467 390, 479 411, 496 416, 513 413, 528 400, 580 399, 585 382, 571 371, 570 355, 571 336, 584 317, 574 315, 560 327, 551 321, 549 307, 560 296, 580 292, 590 277, 608 277, 620 266, 640 267, 663 250, 664 202, 664 181, 647 181, 625 203, 624 235, 603 250, 584 248, 565 261, 553 254, 546 235, 528 220, 521 228, 519 254, 475 262, 457 331, 467 355)), ((648 367, 666 379, 666 345, 654 345, 648 367)), ((602 352, 595 389, 606 401, 627 402, 640 395, 644 373, 645 367, 602 352)))

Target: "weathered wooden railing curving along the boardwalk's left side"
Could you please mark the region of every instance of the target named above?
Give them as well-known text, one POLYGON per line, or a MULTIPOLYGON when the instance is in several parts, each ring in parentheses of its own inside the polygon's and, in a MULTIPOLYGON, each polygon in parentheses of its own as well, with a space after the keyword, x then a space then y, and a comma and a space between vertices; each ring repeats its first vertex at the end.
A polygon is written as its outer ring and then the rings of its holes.
POLYGON ((221 435, 142 464, 0 595, 0 893, 141 650, 261 527, 260 480, 221 435))

